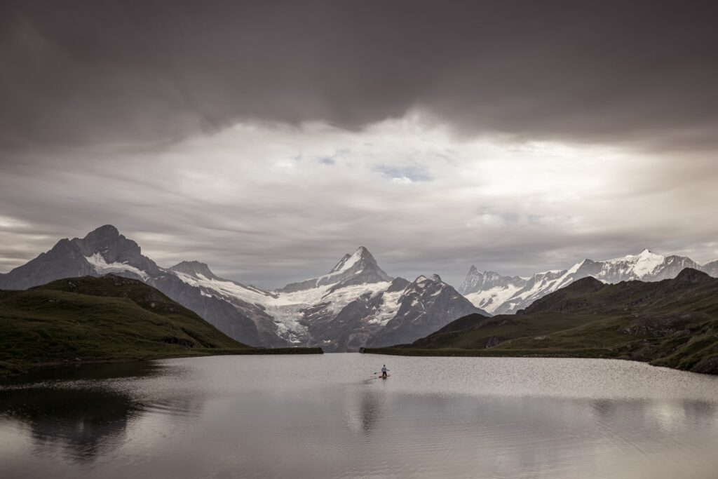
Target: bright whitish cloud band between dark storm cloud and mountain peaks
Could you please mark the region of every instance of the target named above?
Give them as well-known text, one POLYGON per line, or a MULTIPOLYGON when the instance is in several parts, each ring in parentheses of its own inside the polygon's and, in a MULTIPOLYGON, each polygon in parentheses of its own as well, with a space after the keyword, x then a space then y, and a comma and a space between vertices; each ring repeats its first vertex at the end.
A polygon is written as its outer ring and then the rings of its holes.
POLYGON ((644 247, 718 258, 718 166, 696 152, 461 139, 409 115, 16 159, 0 167, 0 271, 105 223, 162 266, 197 259, 269 288, 324 274, 359 245, 390 274, 452 284, 470 264, 526 275, 644 247), (331 167, 317 161, 337 151, 331 167))

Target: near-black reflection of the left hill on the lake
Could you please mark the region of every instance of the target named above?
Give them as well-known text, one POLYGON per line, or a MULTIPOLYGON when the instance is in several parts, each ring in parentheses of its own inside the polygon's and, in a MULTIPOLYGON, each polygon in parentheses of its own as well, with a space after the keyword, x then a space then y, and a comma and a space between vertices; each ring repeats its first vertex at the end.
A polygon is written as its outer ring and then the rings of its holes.
POLYGON ((145 409, 131 394, 98 381, 151 377, 161 370, 154 363, 105 363, 8 378, 0 389, 0 424, 22 424, 39 454, 91 461, 111 454, 145 409))

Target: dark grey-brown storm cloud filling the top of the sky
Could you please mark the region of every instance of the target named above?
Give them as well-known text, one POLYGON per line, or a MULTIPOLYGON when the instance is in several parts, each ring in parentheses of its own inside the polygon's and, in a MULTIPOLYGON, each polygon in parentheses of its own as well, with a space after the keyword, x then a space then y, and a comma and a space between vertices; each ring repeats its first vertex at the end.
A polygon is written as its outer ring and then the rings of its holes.
POLYGON ((696 148, 718 126, 715 2, 11 1, 0 141, 174 141, 255 119, 696 148))

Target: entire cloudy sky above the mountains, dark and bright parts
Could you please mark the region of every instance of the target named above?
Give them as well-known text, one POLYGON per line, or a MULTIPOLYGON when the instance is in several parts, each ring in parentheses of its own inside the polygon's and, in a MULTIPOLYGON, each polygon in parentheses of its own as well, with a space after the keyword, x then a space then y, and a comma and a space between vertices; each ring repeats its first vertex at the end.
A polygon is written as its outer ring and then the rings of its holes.
POLYGON ((115 225, 275 288, 718 259, 718 6, 4 1, 0 272, 115 225))

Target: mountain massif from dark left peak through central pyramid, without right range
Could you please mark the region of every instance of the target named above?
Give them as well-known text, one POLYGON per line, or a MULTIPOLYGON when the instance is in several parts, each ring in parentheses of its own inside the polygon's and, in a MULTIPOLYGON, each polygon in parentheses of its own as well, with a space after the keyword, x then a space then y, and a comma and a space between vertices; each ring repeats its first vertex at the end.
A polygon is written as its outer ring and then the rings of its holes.
POLYGON ((325 351, 408 343, 475 307, 434 274, 392 278, 370 252, 346 254, 327 274, 274 292, 223 279, 199 261, 162 268, 139 245, 105 225, 84 238, 0 274, 0 289, 27 289, 57 279, 104 274, 139 279, 248 345, 321 346, 325 351))

